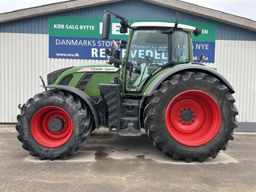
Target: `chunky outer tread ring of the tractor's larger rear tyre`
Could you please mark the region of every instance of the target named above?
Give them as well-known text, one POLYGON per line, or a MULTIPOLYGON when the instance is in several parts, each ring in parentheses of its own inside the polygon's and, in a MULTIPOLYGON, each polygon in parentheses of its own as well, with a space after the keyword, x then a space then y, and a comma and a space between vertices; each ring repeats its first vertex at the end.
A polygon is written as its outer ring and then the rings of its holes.
MULTIPOLYGON (((162 99, 162 97, 161 97, 162 99)), ((145 124, 145 130, 147 130, 149 140, 154 143, 156 148, 159 151, 162 151, 164 155, 172 156, 174 160, 180 160, 185 159, 186 162, 191 162, 193 160, 198 160, 199 162, 203 162, 208 157, 215 158, 220 150, 226 150, 228 146, 228 140, 234 139, 234 129, 237 128, 237 120, 236 115, 238 115, 238 111, 236 106, 234 105, 235 99, 233 96, 228 92, 228 88, 220 83, 220 81, 212 76, 208 76, 207 74, 200 73, 200 72, 182 72, 179 75, 173 75, 166 81, 162 82, 158 89, 153 93, 151 97, 147 99, 147 105, 145 107, 143 117, 144 117, 144 124, 145 124), (205 153, 204 155, 186 155, 182 154, 182 152, 174 152, 173 150, 167 149, 164 142, 160 139, 159 134, 157 132, 157 129, 155 128, 155 121, 154 117, 156 115, 156 104, 160 100, 161 94, 165 93, 168 89, 170 89, 170 86, 176 86, 179 81, 188 81, 191 78, 196 78, 197 80, 200 80, 202 78, 206 78, 208 83, 211 84, 218 84, 217 88, 220 92, 226 92, 226 98, 230 102, 230 108, 231 108, 231 116, 232 116, 232 125, 230 125, 230 132, 227 135, 226 140, 224 140, 219 146, 216 146, 215 150, 209 151, 209 153, 205 153), (153 123, 153 126, 152 126, 153 123), (150 125, 150 126, 148 126, 150 125)))

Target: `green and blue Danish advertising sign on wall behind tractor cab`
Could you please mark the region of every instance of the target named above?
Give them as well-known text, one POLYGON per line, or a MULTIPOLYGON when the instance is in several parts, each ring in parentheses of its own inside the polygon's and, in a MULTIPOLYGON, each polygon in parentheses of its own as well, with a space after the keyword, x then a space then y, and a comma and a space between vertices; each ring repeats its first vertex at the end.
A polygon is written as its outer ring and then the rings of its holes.
MULTIPOLYGON (((147 21, 175 22, 129 19, 131 24, 147 21)), ((179 21, 179 23, 203 29, 200 36, 195 37, 192 34, 194 61, 200 54, 205 54, 203 62, 214 63, 216 23, 198 21, 179 21)), ((120 34, 120 27, 119 19, 111 19, 109 39, 103 41, 102 18, 49 16, 49 58, 107 60, 105 48, 111 48, 113 39, 116 42, 121 38, 128 39, 131 32, 131 29, 128 29, 128 33, 120 34)), ((125 49, 121 49, 121 57, 124 54, 125 49)))

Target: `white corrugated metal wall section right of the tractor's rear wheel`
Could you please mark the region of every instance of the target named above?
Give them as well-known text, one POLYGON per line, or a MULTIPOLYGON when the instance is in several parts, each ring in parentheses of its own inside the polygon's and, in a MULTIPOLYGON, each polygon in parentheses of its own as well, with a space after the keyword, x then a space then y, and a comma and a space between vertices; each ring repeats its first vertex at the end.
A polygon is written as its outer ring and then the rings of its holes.
POLYGON ((256 41, 216 40, 217 71, 228 79, 236 93, 238 122, 256 122, 256 41))

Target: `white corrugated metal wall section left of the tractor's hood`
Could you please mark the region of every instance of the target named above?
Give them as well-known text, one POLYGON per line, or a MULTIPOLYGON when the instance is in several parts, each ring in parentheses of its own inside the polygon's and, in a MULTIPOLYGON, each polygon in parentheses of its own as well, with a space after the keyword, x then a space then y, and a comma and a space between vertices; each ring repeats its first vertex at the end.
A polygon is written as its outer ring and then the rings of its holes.
POLYGON ((103 63, 103 60, 50 59, 48 35, 0 33, 0 122, 17 122, 18 104, 44 91, 48 73, 69 66, 103 63))

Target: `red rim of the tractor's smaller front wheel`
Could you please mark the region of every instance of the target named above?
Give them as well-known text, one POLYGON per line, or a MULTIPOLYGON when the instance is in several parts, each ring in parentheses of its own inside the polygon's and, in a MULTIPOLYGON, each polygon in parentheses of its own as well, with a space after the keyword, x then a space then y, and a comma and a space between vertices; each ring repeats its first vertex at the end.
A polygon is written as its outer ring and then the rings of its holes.
POLYGON ((39 144, 44 147, 54 148, 63 145, 69 140, 73 132, 73 122, 64 109, 48 106, 36 112, 31 120, 30 129, 32 136, 39 144), (55 127, 49 127, 49 122, 52 123, 54 121, 55 123, 60 123, 56 124, 55 127))

